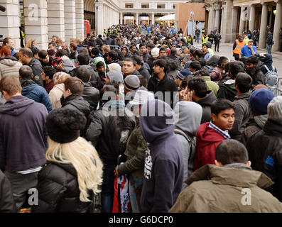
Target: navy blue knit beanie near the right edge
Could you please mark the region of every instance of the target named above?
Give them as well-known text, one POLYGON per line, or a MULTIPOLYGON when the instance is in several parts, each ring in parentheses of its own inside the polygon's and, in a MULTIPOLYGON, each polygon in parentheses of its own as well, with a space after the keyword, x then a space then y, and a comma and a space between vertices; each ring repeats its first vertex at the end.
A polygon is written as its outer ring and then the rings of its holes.
POLYGON ((267 114, 267 105, 273 99, 274 95, 268 89, 257 89, 249 98, 249 106, 251 111, 258 115, 267 114))

